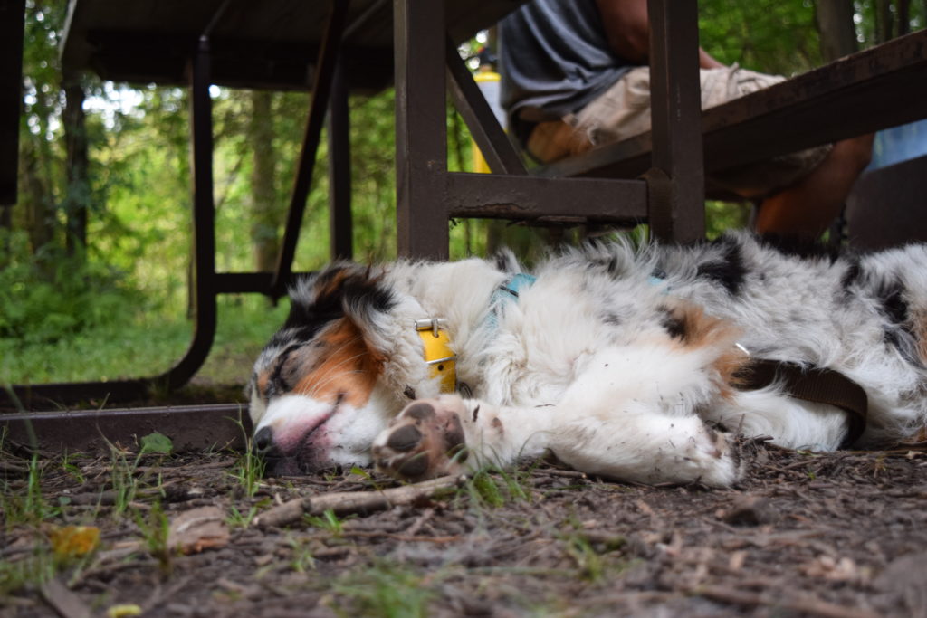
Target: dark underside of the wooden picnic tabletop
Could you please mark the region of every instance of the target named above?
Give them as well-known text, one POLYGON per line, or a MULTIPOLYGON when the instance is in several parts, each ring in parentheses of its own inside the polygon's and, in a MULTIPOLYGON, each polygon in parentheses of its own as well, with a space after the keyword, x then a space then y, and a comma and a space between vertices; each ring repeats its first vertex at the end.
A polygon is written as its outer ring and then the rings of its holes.
MULTIPOLYGON (((447 0, 451 37, 464 41, 523 1, 447 0)), ((185 83, 186 60, 219 14, 210 36, 213 82, 306 89, 329 7, 319 0, 70 0, 62 63, 116 82, 185 83)), ((388 0, 350 3, 343 58, 355 89, 392 81, 392 10, 388 0)))

